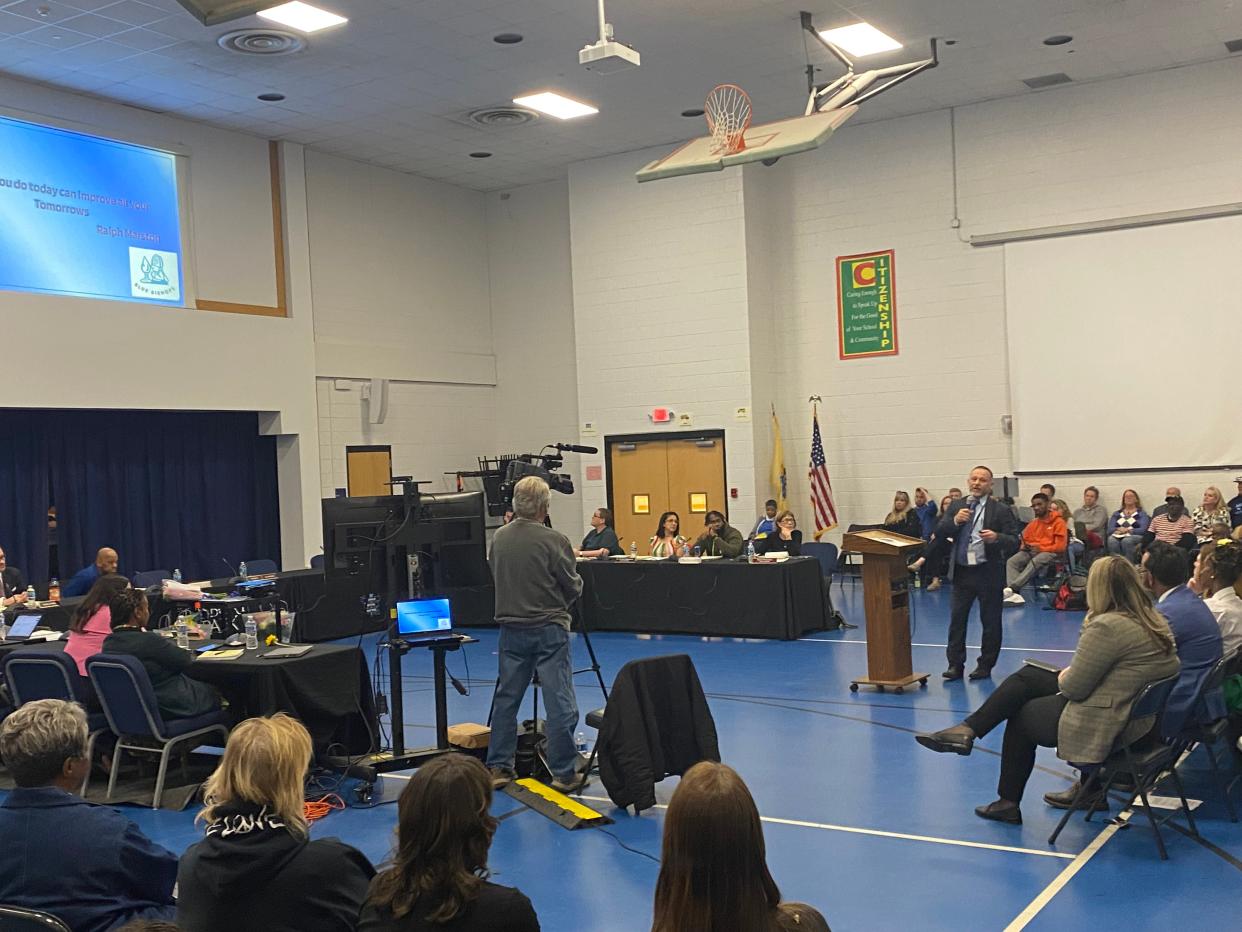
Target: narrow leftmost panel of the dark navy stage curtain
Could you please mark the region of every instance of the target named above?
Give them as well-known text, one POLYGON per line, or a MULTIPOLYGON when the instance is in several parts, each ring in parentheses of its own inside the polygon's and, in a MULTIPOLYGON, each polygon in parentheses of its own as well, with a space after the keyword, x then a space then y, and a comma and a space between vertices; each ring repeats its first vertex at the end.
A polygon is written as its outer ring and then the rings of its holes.
POLYGON ((0 547, 27 582, 47 579, 47 445, 41 411, 0 411, 0 547))

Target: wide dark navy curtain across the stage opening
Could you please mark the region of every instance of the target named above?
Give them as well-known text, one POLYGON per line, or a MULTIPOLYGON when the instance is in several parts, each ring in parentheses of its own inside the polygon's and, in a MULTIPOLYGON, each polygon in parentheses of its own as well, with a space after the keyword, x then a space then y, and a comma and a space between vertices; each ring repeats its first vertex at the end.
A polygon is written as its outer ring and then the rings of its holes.
MULTIPOLYGON (((35 415, 32 430, 25 435, 35 451, 19 454, 10 445, 0 454, 0 481, 7 491, 6 457, 36 457, 29 466, 42 477, 42 496, 37 497, 37 480, 27 477, 31 492, 22 508, 30 513, 19 508, 14 527, 25 527, 32 534, 37 531, 37 512, 46 541, 50 481, 58 518, 61 579, 92 563, 101 547, 120 554, 120 572, 125 575, 180 567, 186 579, 204 579, 225 575, 225 562, 236 567, 240 560, 267 558, 279 564, 276 439, 258 435, 256 414, 17 414, 35 415), (42 461, 37 460, 39 450, 42 461)), ((0 521, 6 517, 0 505, 0 521)), ((9 527, 7 522, 4 527, 9 527)), ((27 557, 22 552, 22 558, 31 563, 27 577, 42 580, 46 544, 39 552, 43 554, 42 574, 34 572, 39 553, 27 557)))

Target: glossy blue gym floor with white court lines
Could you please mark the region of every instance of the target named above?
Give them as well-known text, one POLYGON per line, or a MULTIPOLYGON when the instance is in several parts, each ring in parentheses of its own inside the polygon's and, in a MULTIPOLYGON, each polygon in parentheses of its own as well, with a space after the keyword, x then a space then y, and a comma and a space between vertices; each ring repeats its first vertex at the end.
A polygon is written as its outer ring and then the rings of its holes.
MULTIPOLYGON (((861 587, 835 588, 846 616, 862 623, 861 587)), ((842 930, 1220 930, 1235 927, 1242 893, 1242 825, 1232 824, 1207 778, 1202 752, 1184 764, 1187 794, 1203 800, 1195 814, 1203 843, 1165 831, 1170 860, 1161 862, 1141 815, 1084 851, 1105 823, 1076 814, 1057 846, 1047 838, 1061 813, 1041 797, 1063 789, 1069 769, 1041 751, 1022 805, 1025 825, 984 821, 972 809, 996 797, 1001 731, 969 758, 934 754, 912 737, 958 722, 1022 659, 1064 662, 1077 640, 1081 613, 1045 611, 1036 599, 1005 611, 1005 650, 992 682, 943 683, 948 589, 914 593, 914 667, 930 674, 925 688, 903 695, 863 690, 850 680, 866 671, 866 625, 820 633, 800 641, 592 636, 605 677, 627 660, 666 652, 694 659, 720 736, 724 761, 745 778, 765 819, 768 862, 787 900, 817 906, 842 930)), ((467 647, 472 693, 450 688, 450 722, 484 722, 496 674, 496 634, 474 633, 467 647)), ((969 644, 974 664, 979 628, 969 644)), ((374 637, 364 640, 374 650, 374 637)), ((576 666, 587 657, 575 637, 576 666)), ((463 657, 450 669, 466 680, 463 657)), ((968 666, 968 669, 970 669, 968 666)), ((407 744, 431 743, 430 659, 405 660, 407 744)), ((578 676, 579 707, 600 706, 587 672, 578 676)), ((528 700, 529 702, 529 700, 528 700)), ((590 739, 594 733, 586 731, 590 739)), ((662 803, 676 778, 657 787, 662 803)), ((347 784, 348 788, 349 784, 347 784)), ((1171 790, 1169 790, 1171 792, 1171 790)), ((612 809, 599 783, 585 792, 616 819, 606 830, 566 831, 498 795, 504 815, 492 845, 501 884, 520 887, 548 932, 638 932, 651 926, 651 895, 660 856, 663 810, 641 816, 612 809)), ((1236 793, 1242 805, 1242 793, 1236 793)), ((348 797, 347 797, 348 798, 348 797)), ((199 838, 194 811, 127 808, 154 839, 175 851, 199 838)), ((1114 814, 1117 809, 1114 805, 1114 814)), ((390 850, 394 805, 337 811, 314 825, 376 864, 390 850)))

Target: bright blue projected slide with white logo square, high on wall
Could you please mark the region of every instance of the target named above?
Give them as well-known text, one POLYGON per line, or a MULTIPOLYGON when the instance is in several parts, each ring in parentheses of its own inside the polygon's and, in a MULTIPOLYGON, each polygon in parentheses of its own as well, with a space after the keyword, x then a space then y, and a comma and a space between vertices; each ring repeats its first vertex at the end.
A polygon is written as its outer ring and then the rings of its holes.
POLYGON ((0 117, 0 288, 183 303, 175 157, 0 117))

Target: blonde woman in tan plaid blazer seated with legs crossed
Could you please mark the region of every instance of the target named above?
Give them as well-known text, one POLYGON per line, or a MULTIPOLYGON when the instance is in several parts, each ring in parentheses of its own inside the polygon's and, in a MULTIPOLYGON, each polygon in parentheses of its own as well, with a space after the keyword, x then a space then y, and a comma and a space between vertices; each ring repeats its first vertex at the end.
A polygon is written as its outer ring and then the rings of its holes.
POLYGON ((1130 707, 1144 686, 1179 669, 1169 623, 1151 606, 1134 564, 1102 557, 1087 575, 1087 618, 1069 666, 1059 674, 1023 666, 960 724, 915 738, 932 751, 969 754, 976 738, 1005 723, 1000 798, 975 814, 1021 825, 1037 747, 1054 747, 1076 764, 1103 762, 1118 738, 1133 742, 1151 731, 1155 716, 1128 724, 1130 707))

